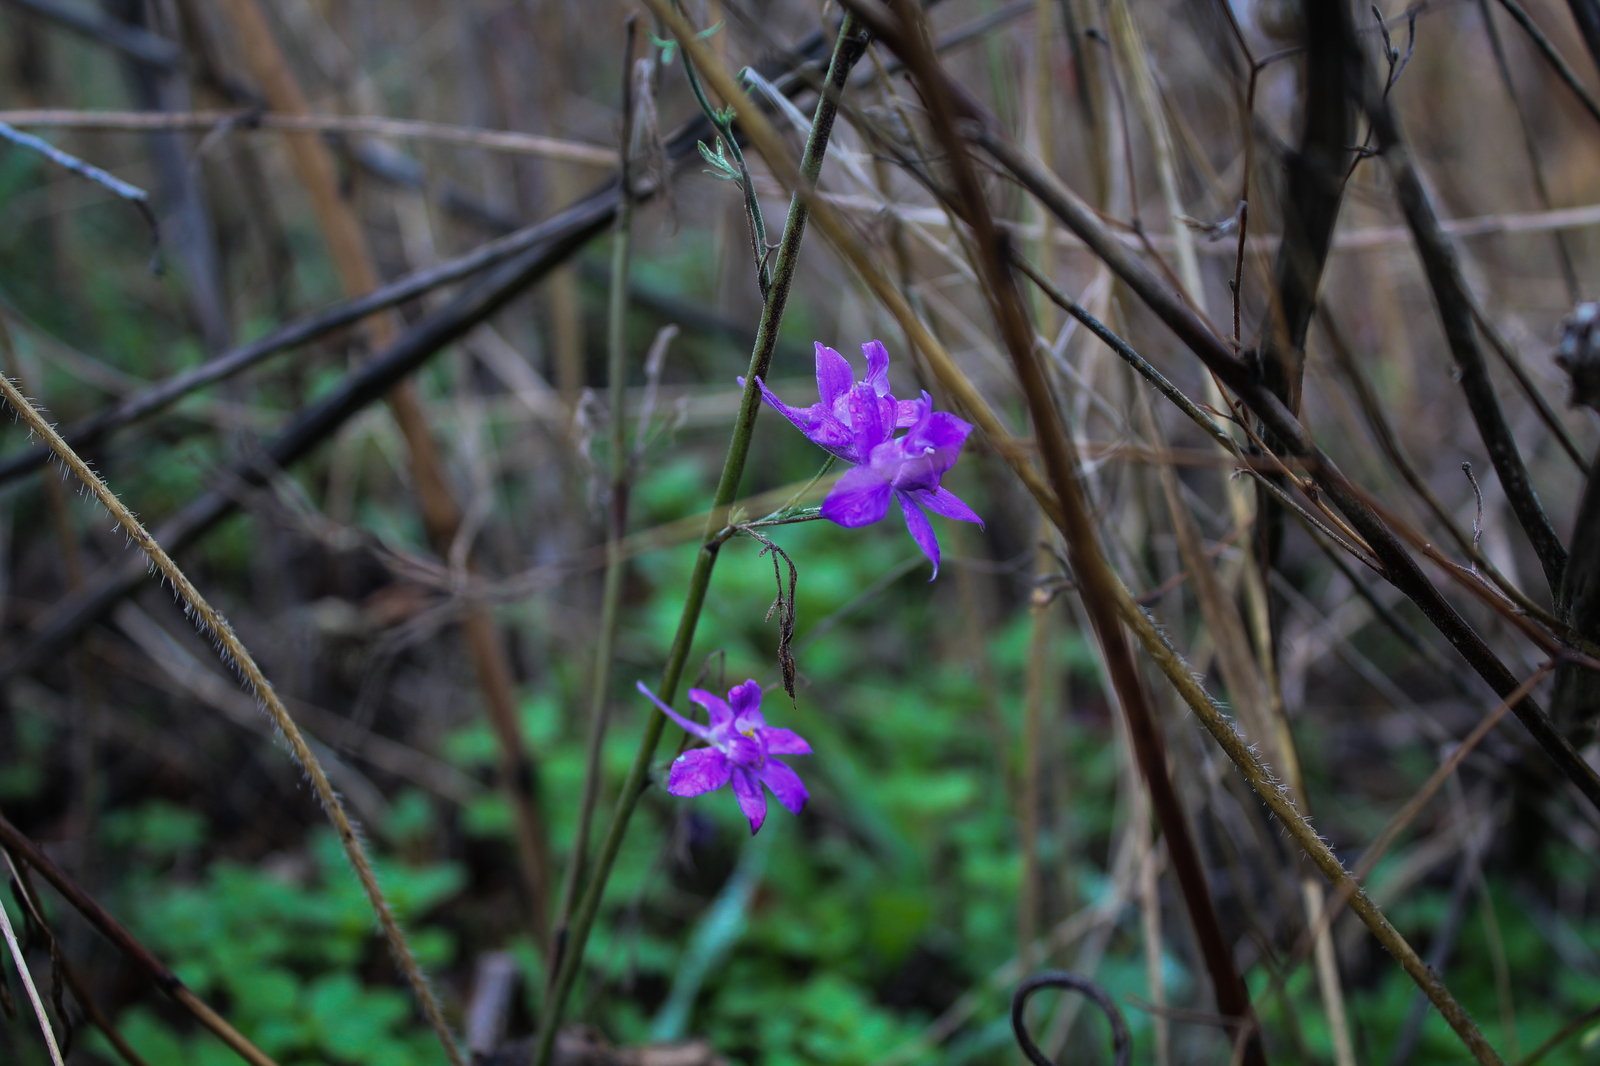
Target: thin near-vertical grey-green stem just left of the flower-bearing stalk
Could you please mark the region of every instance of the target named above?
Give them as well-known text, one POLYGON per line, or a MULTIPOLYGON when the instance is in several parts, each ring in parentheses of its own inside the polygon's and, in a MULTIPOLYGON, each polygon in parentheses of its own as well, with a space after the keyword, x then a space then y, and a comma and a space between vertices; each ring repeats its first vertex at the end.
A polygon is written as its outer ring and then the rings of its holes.
MULTIPOLYGON (((622 407, 627 400, 627 274, 634 234, 634 187, 629 173, 629 149, 634 139, 634 35, 637 16, 627 19, 627 43, 622 48, 622 139, 618 163, 618 184, 622 197, 616 208, 616 232, 611 237, 611 293, 606 307, 606 378, 610 381, 611 408, 611 514, 605 541, 605 584, 600 591, 600 634, 595 642, 594 674, 589 682, 589 749, 584 762, 584 791, 578 804, 578 829, 573 837, 573 853, 562 877, 562 903, 555 917, 555 935, 550 938, 550 956, 546 960, 546 992, 555 983, 555 975, 566 952, 568 925, 573 920, 573 904, 578 896, 584 866, 589 861, 589 832, 594 828, 594 812, 600 800, 600 752, 605 746, 610 715, 606 703, 611 696, 611 658, 616 651, 616 627, 622 599, 622 570, 626 555, 622 538, 627 535, 627 424, 622 407)), ((638 91, 650 91, 650 80, 640 78, 638 91)))

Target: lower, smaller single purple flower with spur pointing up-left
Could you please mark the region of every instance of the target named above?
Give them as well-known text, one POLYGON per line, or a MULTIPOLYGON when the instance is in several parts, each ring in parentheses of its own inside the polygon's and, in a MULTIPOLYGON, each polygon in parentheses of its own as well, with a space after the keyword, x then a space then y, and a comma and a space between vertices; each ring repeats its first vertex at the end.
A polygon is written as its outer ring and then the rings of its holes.
POLYGON ((656 693, 638 682, 638 691, 650 696, 664 715, 699 736, 709 747, 683 752, 667 775, 667 792, 674 795, 704 795, 733 783, 733 795, 739 810, 750 820, 754 836, 766 821, 766 794, 762 784, 773 791, 778 802, 790 815, 805 807, 805 784, 789 763, 773 755, 810 755, 811 746, 794 730, 768 725, 762 717, 762 687, 755 680, 736 685, 723 701, 704 688, 690 688, 690 699, 706 707, 710 727, 690 722, 682 714, 656 699, 656 693), (731 707, 728 704, 733 704, 731 707))

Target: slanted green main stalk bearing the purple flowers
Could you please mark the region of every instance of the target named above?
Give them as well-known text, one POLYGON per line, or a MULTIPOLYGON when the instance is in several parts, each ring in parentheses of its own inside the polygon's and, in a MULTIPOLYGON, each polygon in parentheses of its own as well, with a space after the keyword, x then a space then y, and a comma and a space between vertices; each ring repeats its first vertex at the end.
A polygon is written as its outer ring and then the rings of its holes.
MULTIPOLYGON (((651 5, 654 6, 654 5, 651 5)), ((827 152, 827 141, 834 131, 834 117, 838 114, 837 98, 845 86, 850 69, 866 51, 867 38, 854 16, 846 16, 834 42, 834 56, 829 61, 826 90, 816 104, 816 118, 811 123, 811 136, 806 139, 805 155, 800 160, 800 178, 803 189, 816 186, 822 171, 822 155, 827 152)), ((755 333, 755 349, 750 352, 750 368, 744 379, 744 397, 739 403, 739 415, 733 424, 733 435, 728 442, 728 458, 723 461, 722 479, 717 483, 717 496, 712 512, 706 522, 706 535, 701 541, 699 555, 694 559, 694 573, 690 578, 688 595, 683 600, 683 615, 678 619, 677 635, 672 639, 672 651, 661 675, 658 696, 670 704, 683 677, 683 666, 688 661, 690 648, 694 643, 694 627, 699 624, 701 608, 706 605, 706 591, 710 587, 710 571, 717 565, 720 541, 717 535, 726 525, 728 507, 733 504, 744 474, 744 463, 750 453, 750 434, 755 429, 755 415, 760 411, 762 394, 755 386, 757 378, 765 378, 773 362, 773 351, 778 346, 778 327, 782 322, 784 307, 789 303, 789 287, 794 282, 795 264, 800 256, 800 242, 810 211, 802 190, 797 189, 789 202, 789 218, 784 222, 784 237, 778 248, 776 271, 773 283, 766 291, 766 303, 762 307, 762 320, 755 333)), ((589 930, 594 927, 600 911, 600 900, 605 895, 606 880, 611 876, 611 864, 622 847, 627 834, 627 823, 638 807, 638 799, 645 792, 650 762, 654 759, 656 744, 661 743, 661 731, 666 727, 666 715, 659 711, 650 712, 645 725, 645 736, 638 743, 634 765, 627 771, 622 794, 618 797, 616 812, 606 828, 600 853, 595 856, 595 868, 589 877, 582 901, 573 916, 573 924, 562 952, 555 983, 546 997, 539 1018, 539 1044, 534 1050, 534 1066, 546 1066, 555 1047, 555 1031, 562 1021, 566 997, 571 994, 573 981, 582 965, 584 946, 589 941, 589 930)))

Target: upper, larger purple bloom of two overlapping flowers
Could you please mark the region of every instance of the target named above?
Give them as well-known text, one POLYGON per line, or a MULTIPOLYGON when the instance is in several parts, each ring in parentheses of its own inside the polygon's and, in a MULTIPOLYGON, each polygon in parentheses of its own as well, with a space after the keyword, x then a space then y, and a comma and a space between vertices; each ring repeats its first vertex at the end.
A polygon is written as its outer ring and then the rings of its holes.
POLYGON ((888 349, 867 341, 861 352, 867 357, 867 376, 856 381, 850 360, 818 343, 818 402, 808 408, 789 407, 760 378, 755 384, 808 440, 856 464, 822 501, 822 517, 850 528, 872 525, 888 514, 893 499, 938 578, 939 539, 926 512, 976 522, 979 528, 984 523, 955 493, 939 485, 946 471, 955 466, 973 426, 947 411, 934 411, 926 392, 920 400, 894 399, 888 349), (899 429, 906 434, 896 437, 899 429))

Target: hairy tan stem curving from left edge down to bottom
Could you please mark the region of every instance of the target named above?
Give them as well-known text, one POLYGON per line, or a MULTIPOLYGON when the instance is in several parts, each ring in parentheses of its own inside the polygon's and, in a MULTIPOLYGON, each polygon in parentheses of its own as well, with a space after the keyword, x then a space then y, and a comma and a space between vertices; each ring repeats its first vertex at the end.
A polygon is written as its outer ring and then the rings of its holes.
POLYGON ((230 663, 250 685, 251 693, 261 704, 267 709, 272 717, 274 725, 283 733, 283 738, 290 744, 290 751, 294 754, 294 760, 301 763, 306 775, 310 778, 312 789, 317 792, 317 800, 322 804, 323 810, 328 812, 328 818, 333 821, 334 829, 339 832, 339 842, 344 845, 344 855, 355 868, 355 876, 362 882, 362 888, 366 892, 366 901, 371 904, 378 916, 378 924, 382 928, 384 938, 389 941, 389 949, 395 956, 395 962, 405 973, 406 981, 411 984, 411 991, 416 994, 418 1002, 422 1007, 422 1013, 427 1016, 429 1024, 434 1028, 438 1042, 445 1047, 445 1053, 450 1056, 451 1066, 464 1066, 461 1058, 461 1050, 456 1047, 454 1037, 450 1034, 450 1026, 445 1021, 445 1015, 438 1007, 438 1000, 434 999, 434 991, 427 984, 427 978, 422 975, 421 965, 416 962, 416 956, 411 954, 411 944, 406 943, 405 932, 395 920, 394 911, 389 908, 389 900, 384 898, 384 890, 378 885, 378 876, 373 872, 371 863, 366 860, 366 852, 362 847, 362 840, 350 824, 349 815, 344 813, 344 802, 339 794, 333 791, 328 784, 328 775, 323 773, 322 763, 317 762, 317 755, 312 752, 310 746, 306 743, 306 736, 294 725, 294 719, 290 717, 288 709, 285 709, 283 701, 278 699, 277 691, 274 691, 272 683, 267 680, 261 667, 256 666, 256 659, 245 648, 243 642, 234 634, 234 627, 229 626, 227 619, 218 611, 211 603, 206 602, 200 591, 189 581, 178 563, 166 554, 166 551, 155 543, 155 538, 146 531, 144 525, 128 511, 126 506, 117 498, 106 482, 101 480, 99 474, 90 469, 77 451, 74 451, 67 443, 56 434, 54 427, 45 419, 38 410, 24 397, 11 379, 0 375, 0 397, 21 416, 21 419, 38 434, 50 450, 70 469, 80 482, 94 495, 94 499, 106 507, 112 517, 117 519, 117 525, 126 531, 133 541, 144 549, 144 554, 150 557, 155 568, 162 571, 168 581, 173 583, 178 595, 182 597, 187 605, 187 613, 192 616, 200 631, 210 635, 219 645, 219 653, 226 663, 230 663))

